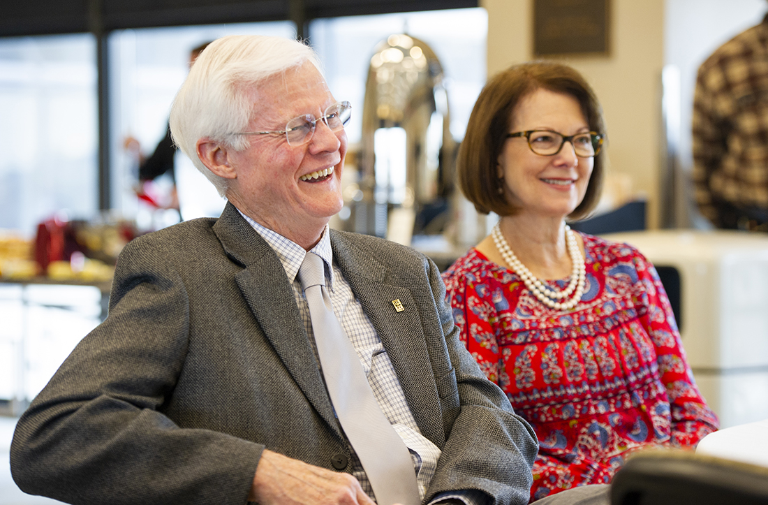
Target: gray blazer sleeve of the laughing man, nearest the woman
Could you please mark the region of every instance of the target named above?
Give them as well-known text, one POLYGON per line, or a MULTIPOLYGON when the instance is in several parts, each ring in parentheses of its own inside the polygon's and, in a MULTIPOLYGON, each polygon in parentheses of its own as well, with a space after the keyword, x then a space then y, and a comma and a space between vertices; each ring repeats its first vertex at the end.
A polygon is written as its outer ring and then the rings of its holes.
POLYGON ((491 498, 489 503, 528 503, 538 451, 534 430, 515 414, 506 395, 485 377, 462 344, 439 271, 429 260, 427 268, 460 406, 427 497, 480 490, 491 498))

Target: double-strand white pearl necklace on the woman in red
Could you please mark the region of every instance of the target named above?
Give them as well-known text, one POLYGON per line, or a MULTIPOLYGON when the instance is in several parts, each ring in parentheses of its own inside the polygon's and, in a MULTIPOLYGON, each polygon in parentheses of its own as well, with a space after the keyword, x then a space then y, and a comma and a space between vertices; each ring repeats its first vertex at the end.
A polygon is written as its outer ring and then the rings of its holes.
POLYGON ((498 249, 498 252, 502 254, 504 261, 506 261, 511 269, 520 276, 525 283, 525 287, 538 298, 538 301, 541 301, 542 304, 557 311, 568 311, 578 304, 581 300, 581 295, 584 294, 586 267, 584 265, 584 257, 581 256, 581 251, 578 248, 576 236, 574 232, 571 231, 571 227, 568 226, 568 224, 565 225, 565 244, 568 247, 568 255, 571 256, 573 270, 571 271, 571 281, 562 291, 552 290, 545 286, 531 274, 531 271, 528 270, 520 260, 518 260, 518 257, 512 252, 502 234, 501 221, 496 223, 493 227, 492 236, 496 248, 498 249), (573 294, 573 297, 570 300, 561 301, 571 294, 573 294))

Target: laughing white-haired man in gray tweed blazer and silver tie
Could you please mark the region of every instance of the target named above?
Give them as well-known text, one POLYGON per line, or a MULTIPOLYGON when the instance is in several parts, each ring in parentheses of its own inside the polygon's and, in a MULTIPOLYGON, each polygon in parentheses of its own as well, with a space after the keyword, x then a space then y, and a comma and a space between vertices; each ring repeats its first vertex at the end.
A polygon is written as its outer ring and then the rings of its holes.
POLYGON ((170 127, 227 208, 124 249, 109 316, 18 422, 22 490, 111 504, 528 501, 535 434, 458 341, 435 265, 327 227, 350 106, 318 68, 283 38, 226 37, 200 55, 170 127))

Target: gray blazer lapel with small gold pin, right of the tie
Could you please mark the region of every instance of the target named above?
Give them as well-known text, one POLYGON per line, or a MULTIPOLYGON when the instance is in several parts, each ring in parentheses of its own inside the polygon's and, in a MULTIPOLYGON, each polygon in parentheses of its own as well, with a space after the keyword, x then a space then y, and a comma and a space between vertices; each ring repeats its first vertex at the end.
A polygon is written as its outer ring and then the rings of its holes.
MULTIPOLYGON (((339 234, 331 234, 333 259, 362 304, 406 394, 422 434, 437 443, 445 440, 441 404, 429 363, 419 305, 406 287, 386 283, 387 267, 339 234), (393 301, 399 300, 402 311, 393 301)), ((442 444, 438 444, 442 447, 442 444)))

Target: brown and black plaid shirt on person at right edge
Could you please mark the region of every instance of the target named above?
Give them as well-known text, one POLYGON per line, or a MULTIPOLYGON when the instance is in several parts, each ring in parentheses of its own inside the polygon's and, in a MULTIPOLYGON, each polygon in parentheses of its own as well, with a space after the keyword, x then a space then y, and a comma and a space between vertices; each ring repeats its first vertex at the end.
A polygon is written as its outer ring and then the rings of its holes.
POLYGON ((717 201, 768 209, 768 15, 699 68, 693 117, 694 195, 717 222, 717 201))

